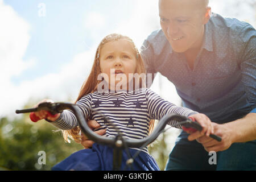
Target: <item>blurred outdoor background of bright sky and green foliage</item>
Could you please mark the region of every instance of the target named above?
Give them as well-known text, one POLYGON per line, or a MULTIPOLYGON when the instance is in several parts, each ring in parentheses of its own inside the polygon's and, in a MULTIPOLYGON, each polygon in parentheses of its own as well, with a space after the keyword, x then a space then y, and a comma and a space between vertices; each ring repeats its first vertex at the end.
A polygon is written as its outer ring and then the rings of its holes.
MULTIPOLYGON (((256 25, 256 0, 210 0, 212 12, 256 25)), ((129 36, 138 48, 160 28, 157 0, 0 0, 0 170, 50 170, 82 146, 65 143, 45 121, 16 109, 43 98, 73 102, 104 36, 129 36), (46 163, 39 164, 39 152, 46 163)), ((158 74, 151 89, 181 105, 174 85, 158 74)), ((169 129, 149 148, 160 169, 174 147, 169 129)))

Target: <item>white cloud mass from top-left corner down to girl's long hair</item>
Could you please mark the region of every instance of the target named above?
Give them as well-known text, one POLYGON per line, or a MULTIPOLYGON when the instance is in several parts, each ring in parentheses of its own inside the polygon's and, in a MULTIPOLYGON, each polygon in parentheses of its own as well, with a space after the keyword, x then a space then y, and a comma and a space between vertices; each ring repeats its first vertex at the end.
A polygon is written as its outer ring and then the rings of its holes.
POLYGON ((15 109, 21 109, 30 98, 65 100, 70 96, 75 99, 92 65, 91 51, 74 56, 70 63, 62 66, 59 73, 14 85, 11 77, 19 76, 36 63, 36 59, 23 60, 30 40, 30 25, 1 0, 0 25, 0 117, 13 117, 15 109))

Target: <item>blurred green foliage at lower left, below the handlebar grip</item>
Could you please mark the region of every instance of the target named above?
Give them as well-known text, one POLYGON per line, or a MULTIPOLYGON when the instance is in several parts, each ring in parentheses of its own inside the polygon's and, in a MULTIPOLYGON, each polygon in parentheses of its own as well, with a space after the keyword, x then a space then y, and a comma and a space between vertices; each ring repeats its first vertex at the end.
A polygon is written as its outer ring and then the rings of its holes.
POLYGON ((10 170, 50 170, 52 166, 82 149, 65 143, 61 132, 46 121, 33 123, 28 114, 20 119, 0 120, 0 166, 10 170), (39 151, 46 152, 46 164, 39 164, 39 151))

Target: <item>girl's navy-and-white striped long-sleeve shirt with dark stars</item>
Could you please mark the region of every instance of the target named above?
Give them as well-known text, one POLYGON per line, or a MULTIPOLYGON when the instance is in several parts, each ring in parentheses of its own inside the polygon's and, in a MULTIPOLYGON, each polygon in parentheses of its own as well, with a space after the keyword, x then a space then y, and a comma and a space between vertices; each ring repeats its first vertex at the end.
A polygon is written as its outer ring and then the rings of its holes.
MULTIPOLYGON (((179 107, 163 100, 150 89, 142 88, 137 92, 94 92, 82 97, 77 103, 85 118, 96 120, 100 129, 106 129, 106 137, 115 137, 117 131, 102 115, 114 123, 125 138, 141 139, 148 136, 151 119, 161 119, 168 113, 185 117, 197 112, 179 107), (96 113, 92 109, 100 111, 96 113)), ((69 130, 78 125, 72 111, 64 110, 60 118, 52 124, 59 129, 69 130)), ((171 125, 171 123, 169 123, 171 125)), ((177 126, 181 128, 181 126, 177 126)), ((146 148, 143 151, 147 151, 146 148)))

